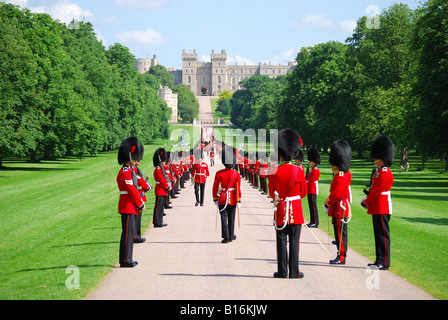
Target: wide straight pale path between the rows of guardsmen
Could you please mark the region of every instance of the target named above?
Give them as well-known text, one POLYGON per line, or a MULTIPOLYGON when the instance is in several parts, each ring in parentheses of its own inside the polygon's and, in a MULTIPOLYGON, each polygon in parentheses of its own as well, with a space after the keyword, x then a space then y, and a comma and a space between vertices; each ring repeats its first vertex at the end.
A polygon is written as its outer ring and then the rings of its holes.
MULTIPOLYGON (((243 180, 241 228, 236 229, 236 241, 222 244, 211 194, 215 173, 223 168, 219 159, 216 162, 204 207, 194 206, 194 188, 188 183, 173 200, 174 208, 166 211, 168 226, 149 228, 147 242, 134 246, 138 266, 121 269, 117 265, 87 299, 432 299, 390 271, 372 272, 366 267, 371 261, 351 249, 345 266, 330 265, 330 256, 305 227, 300 242, 300 271, 305 277, 273 278, 277 263, 272 204, 243 180)), ((306 200, 303 204, 307 213, 306 200)), ((326 219, 322 220, 325 224, 326 219)), ((333 239, 312 230, 334 258, 333 239)))

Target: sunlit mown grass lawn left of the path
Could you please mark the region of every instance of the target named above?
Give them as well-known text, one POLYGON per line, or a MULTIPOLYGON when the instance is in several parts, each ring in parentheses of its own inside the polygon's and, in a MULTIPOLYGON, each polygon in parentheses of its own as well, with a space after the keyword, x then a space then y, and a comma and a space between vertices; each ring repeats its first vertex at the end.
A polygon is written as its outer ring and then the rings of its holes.
MULTIPOLYGON (((146 146, 141 167, 153 181, 146 146)), ((162 143, 163 145, 163 143, 162 143)), ((81 299, 118 262, 117 152, 96 157, 8 162, 0 170, 0 299, 81 299), (69 290, 68 266, 79 268, 79 290, 69 290)), ((155 185, 154 183, 152 183, 155 185)), ((152 221, 150 193, 142 229, 152 221)))

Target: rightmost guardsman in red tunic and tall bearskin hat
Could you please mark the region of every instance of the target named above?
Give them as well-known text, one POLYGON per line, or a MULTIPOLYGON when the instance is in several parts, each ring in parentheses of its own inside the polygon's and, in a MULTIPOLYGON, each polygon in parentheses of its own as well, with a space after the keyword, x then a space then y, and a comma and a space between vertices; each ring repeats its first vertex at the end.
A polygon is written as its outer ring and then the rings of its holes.
POLYGON ((372 186, 361 205, 372 215, 375 235, 376 260, 369 266, 380 270, 390 267, 390 230, 389 221, 392 215, 392 200, 390 191, 394 184, 394 176, 389 169, 394 162, 395 148, 386 136, 380 136, 373 141, 371 156, 378 168, 372 177, 372 186))

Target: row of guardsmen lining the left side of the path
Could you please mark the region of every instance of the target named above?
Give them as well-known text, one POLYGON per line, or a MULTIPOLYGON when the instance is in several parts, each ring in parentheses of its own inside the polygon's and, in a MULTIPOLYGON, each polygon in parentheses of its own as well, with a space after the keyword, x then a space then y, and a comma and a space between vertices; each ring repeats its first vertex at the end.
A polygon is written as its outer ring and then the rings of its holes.
POLYGON ((170 198, 177 198, 180 190, 185 188, 185 182, 190 179, 190 171, 193 168, 193 156, 188 156, 184 152, 170 153, 164 148, 159 148, 153 156, 156 183, 153 187, 139 167, 143 155, 144 147, 136 137, 125 139, 118 150, 118 163, 122 166, 117 176, 120 192, 118 212, 122 221, 119 263, 122 268, 133 268, 138 264, 133 260, 134 243, 146 241, 141 236, 141 217, 147 201, 145 193, 154 189, 156 196, 154 227, 166 227, 163 216, 165 209, 172 208, 170 198))

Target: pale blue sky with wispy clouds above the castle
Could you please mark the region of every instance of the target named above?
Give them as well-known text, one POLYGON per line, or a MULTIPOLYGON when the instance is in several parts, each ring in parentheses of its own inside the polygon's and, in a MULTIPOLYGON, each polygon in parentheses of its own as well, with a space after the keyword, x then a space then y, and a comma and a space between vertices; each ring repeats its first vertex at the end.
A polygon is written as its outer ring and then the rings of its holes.
POLYGON ((356 21, 401 2, 419 0, 2 0, 46 12, 62 22, 89 21, 106 47, 127 46, 137 58, 154 54, 182 66, 182 49, 207 61, 227 50, 229 64, 282 63, 301 47, 344 42, 356 21))

